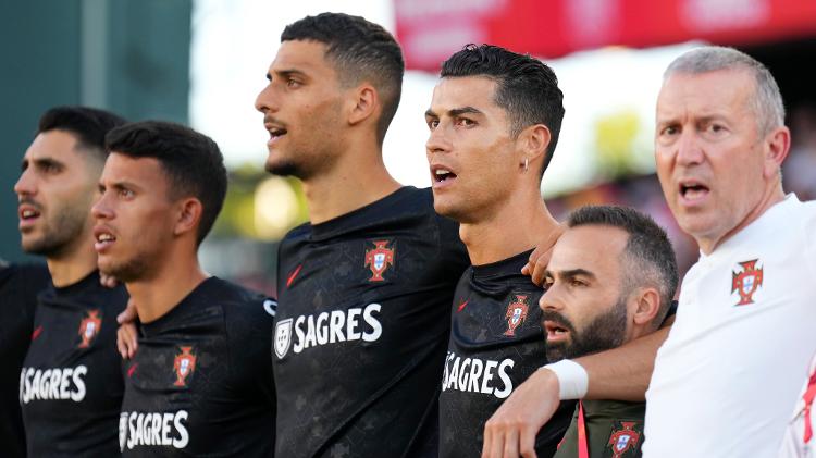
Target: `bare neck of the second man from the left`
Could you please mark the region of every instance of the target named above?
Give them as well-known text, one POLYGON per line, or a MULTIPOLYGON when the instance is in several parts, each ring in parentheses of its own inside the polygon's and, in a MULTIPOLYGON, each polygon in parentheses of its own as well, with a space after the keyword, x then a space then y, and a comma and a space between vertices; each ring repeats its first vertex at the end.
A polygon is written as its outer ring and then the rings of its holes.
POLYGON ((187 257, 168 256, 163 265, 151 272, 150 278, 128 282, 125 286, 139 321, 149 323, 173 310, 208 276, 194 252, 187 257))

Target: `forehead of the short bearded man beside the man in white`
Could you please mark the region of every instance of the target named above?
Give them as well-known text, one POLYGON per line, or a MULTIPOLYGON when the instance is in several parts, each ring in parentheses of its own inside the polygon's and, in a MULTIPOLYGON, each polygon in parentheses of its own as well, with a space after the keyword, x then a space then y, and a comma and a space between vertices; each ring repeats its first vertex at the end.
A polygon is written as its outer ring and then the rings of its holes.
POLYGON ((552 272, 584 269, 598 277, 617 278, 620 256, 629 235, 607 225, 584 225, 568 228, 555 244, 547 269, 552 272))

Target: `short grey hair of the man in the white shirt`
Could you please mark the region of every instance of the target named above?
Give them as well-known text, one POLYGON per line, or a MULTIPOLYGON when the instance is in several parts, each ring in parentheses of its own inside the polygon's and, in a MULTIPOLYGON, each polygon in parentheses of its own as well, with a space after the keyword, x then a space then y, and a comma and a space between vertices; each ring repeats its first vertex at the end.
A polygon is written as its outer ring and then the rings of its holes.
POLYGON ((744 70, 754 78, 751 106, 763 135, 784 125, 784 103, 774 75, 759 61, 742 51, 724 46, 694 48, 675 59, 664 72, 663 78, 666 81, 677 73, 695 75, 718 70, 744 70))

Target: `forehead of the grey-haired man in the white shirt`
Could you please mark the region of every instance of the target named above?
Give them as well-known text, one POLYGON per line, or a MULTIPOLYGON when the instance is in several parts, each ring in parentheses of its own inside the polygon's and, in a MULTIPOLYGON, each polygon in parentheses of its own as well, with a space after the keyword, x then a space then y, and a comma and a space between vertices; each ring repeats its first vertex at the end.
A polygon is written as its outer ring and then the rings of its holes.
POLYGON ((676 73, 663 84, 657 97, 657 117, 687 113, 698 116, 751 114, 749 101, 754 79, 745 70, 676 73))

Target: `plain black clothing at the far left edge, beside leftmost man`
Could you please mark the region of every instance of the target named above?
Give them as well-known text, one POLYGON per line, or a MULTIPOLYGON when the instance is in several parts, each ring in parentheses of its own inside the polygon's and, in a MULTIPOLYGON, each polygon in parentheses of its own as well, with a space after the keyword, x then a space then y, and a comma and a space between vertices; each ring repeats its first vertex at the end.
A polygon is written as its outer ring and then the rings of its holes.
POLYGON ((34 330, 37 294, 51 284, 45 264, 0 268, 0 444, 2 456, 25 456, 20 370, 34 330))

